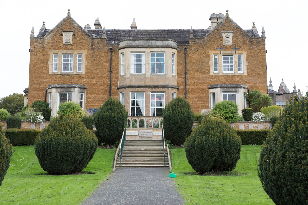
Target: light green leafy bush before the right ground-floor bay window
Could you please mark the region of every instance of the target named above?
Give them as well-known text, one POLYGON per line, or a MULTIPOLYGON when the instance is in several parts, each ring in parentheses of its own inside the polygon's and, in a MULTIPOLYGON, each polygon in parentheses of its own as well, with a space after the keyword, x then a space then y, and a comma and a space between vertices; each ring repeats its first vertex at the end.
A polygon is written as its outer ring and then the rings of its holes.
POLYGON ((235 102, 224 100, 214 105, 212 113, 220 113, 227 123, 234 122, 238 119, 238 106, 235 102))

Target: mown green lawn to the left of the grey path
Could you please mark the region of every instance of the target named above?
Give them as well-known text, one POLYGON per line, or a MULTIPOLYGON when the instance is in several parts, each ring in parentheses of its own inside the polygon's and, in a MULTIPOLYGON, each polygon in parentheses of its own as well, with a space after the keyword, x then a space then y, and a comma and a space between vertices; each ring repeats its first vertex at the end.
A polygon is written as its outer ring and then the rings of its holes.
POLYGON ((79 204, 112 171, 115 150, 97 148, 81 175, 38 175, 44 171, 34 146, 13 147, 11 165, 0 186, 0 204, 79 204))

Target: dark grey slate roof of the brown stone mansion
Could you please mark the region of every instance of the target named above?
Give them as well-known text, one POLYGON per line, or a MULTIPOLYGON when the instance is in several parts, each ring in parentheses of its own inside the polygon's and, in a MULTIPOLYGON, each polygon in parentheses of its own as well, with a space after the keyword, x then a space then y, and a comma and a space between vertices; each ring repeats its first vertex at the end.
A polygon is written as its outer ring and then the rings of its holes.
MULTIPOLYGON (((51 29, 45 29, 43 34, 37 37, 44 37, 51 29)), ((103 29, 85 29, 93 38, 101 38, 103 29)), ((106 29, 106 44, 119 44, 125 39, 172 39, 177 45, 189 45, 190 29, 106 29)), ((195 38, 203 38, 210 29, 193 29, 195 38)), ((249 36, 256 37, 251 29, 244 30, 249 36)))

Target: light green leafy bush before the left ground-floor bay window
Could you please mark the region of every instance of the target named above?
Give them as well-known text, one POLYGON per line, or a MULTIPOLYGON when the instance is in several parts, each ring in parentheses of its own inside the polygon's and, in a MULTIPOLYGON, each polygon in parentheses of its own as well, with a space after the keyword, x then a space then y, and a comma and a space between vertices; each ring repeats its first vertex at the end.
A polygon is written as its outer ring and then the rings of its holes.
POLYGON ((86 112, 81 109, 80 105, 75 102, 65 102, 59 104, 59 110, 57 112, 59 115, 71 115, 75 113, 79 120, 82 120, 86 116, 86 112))

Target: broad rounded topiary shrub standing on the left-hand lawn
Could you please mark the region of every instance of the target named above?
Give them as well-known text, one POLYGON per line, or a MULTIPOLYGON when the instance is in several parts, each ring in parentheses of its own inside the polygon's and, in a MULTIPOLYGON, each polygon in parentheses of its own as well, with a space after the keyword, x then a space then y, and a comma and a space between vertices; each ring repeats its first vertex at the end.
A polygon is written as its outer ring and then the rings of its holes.
POLYGON ((74 115, 54 118, 35 140, 35 154, 50 174, 82 171, 96 148, 97 137, 74 115))

